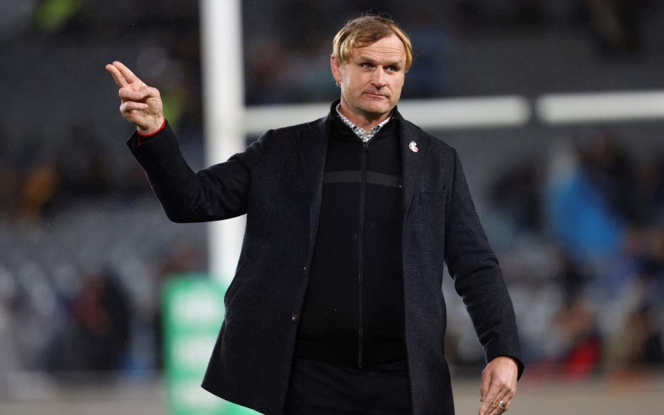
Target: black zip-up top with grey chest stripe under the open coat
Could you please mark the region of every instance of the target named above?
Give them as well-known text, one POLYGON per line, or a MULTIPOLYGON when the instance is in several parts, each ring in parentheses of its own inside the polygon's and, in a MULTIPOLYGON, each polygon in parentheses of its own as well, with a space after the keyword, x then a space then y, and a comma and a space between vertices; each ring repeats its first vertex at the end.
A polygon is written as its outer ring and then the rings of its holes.
POLYGON ((360 368, 403 360, 399 119, 365 143, 331 116, 295 356, 360 368))

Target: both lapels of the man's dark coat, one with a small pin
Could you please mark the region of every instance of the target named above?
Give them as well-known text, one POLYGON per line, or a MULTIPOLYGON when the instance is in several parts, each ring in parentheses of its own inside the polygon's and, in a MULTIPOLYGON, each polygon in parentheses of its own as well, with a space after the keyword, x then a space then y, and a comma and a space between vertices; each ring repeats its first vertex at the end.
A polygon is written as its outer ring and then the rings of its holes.
MULTIPOLYGON (((308 122, 299 134, 299 149, 304 165, 304 181, 309 194, 309 208, 312 219, 320 214, 322 199, 325 158, 329 143, 331 120, 336 116, 335 107, 339 100, 331 105, 330 112, 324 118, 308 122)), ((417 187, 424 160, 430 147, 430 138, 422 134, 412 122, 404 120, 397 107, 394 107, 390 122, 398 122, 401 151, 402 208, 405 216, 417 187), (414 145, 410 143, 414 142, 414 145)), ((316 220, 317 222, 317 220, 316 220)), ((312 223, 313 225, 313 223, 312 223)), ((317 223, 315 223, 317 226, 317 223)))

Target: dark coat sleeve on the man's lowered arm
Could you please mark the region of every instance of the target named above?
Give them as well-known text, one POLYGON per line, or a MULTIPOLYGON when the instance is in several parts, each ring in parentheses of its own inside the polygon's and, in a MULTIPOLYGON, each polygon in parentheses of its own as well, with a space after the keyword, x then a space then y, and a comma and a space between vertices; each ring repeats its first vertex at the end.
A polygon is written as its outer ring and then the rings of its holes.
POLYGON ((445 263, 484 347, 486 362, 498 356, 514 358, 521 378, 524 364, 512 300, 475 212, 456 150, 446 209, 445 263))

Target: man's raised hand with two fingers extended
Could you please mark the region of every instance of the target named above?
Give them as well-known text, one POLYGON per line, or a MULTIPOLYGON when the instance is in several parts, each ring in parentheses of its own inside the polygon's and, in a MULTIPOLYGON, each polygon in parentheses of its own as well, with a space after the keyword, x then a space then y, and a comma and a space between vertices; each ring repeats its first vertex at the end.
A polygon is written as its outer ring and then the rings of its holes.
POLYGON ((106 70, 120 87, 118 95, 122 100, 122 116, 133 122, 140 133, 149 134, 160 129, 164 114, 158 89, 147 86, 122 62, 108 64, 106 70))

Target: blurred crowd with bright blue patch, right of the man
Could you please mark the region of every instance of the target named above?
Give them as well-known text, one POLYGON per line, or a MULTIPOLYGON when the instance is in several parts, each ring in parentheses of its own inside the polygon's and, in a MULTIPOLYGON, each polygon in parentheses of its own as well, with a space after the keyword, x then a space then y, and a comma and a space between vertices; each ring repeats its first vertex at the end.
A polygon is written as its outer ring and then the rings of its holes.
POLYGON ((625 142, 561 139, 492 183, 531 376, 664 365, 664 148, 637 157, 625 142))

